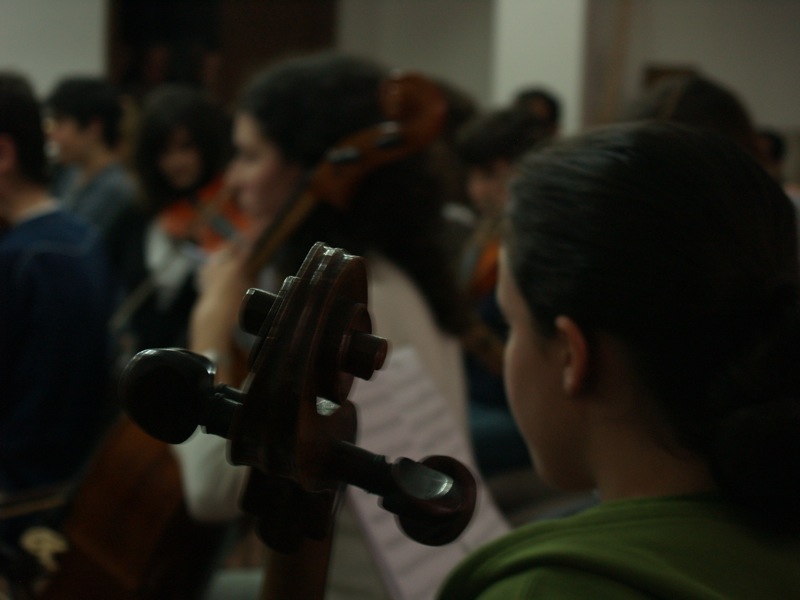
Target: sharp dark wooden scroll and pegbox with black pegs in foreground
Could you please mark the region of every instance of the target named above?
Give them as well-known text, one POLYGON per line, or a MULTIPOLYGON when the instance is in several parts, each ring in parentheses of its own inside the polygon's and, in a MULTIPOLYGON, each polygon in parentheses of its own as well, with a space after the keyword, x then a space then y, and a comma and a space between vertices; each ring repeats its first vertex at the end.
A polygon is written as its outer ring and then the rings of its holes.
POLYGON ((446 456, 389 464, 355 445, 348 394, 388 349, 371 333, 363 259, 317 243, 278 294, 249 290, 239 320, 257 336, 242 389, 215 386, 204 356, 145 350, 123 373, 121 401, 150 435, 180 443, 201 426, 230 440, 230 462, 252 467, 241 506, 270 549, 262 598, 323 598, 347 484, 379 496, 420 543, 447 544, 463 532, 477 493, 464 465, 446 456))

